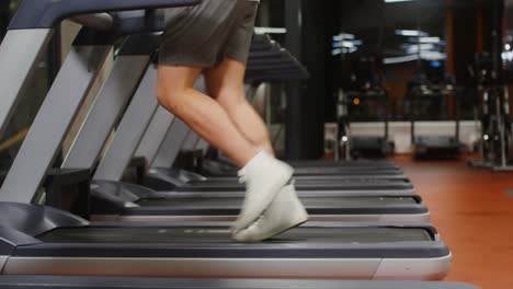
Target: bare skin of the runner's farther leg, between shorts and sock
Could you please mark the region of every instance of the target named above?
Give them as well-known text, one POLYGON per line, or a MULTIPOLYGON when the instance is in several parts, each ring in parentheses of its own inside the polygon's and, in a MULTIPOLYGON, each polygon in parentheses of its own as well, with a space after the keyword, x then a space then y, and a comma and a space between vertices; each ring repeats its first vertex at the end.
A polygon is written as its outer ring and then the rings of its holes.
POLYGON ((244 63, 225 59, 219 66, 205 72, 209 94, 226 109, 246 139, 274 154, 267 127, 246 100, 244 72, 244 63))

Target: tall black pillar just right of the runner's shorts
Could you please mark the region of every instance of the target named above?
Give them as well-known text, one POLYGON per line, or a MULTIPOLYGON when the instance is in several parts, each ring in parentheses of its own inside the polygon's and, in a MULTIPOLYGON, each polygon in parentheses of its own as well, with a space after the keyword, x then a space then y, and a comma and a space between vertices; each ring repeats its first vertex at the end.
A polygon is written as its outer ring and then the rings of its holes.
POLYGON ((323 153, 324 100, 332 97, 327 88, 332 20, 327 21, 326 15, 338 1, 285 0, 286 48, 311 74, 308 81, 288 84, 286 149, 289 159, 318 159, 323 153))

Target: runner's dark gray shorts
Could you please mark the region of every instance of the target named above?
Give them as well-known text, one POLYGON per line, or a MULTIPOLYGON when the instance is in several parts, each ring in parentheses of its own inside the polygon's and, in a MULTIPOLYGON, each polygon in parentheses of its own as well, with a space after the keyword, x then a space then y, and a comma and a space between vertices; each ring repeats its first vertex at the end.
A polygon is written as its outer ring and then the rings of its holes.
POLYGON ((197 7, 168 9, 159 65, 204 67, 230 58, 247 62, 258 2, 204 0, 197 7))

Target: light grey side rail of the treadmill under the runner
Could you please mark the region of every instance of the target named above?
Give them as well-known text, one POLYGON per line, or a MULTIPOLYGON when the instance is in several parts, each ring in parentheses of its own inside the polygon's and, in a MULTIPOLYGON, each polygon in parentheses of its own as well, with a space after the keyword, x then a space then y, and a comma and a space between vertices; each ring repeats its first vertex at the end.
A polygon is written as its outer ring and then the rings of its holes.
MULTIPOLYGON (((395 279, 435 280, 446 275, 446 267, 440 270, 433 266, 428 271, 412 270, 412 264, 422 267, 438 259, 402 259, 396 263, 395 279)), ((446 262, 444 262, 446 263, 446 262)), ((308 279, 391 279, 389 275, 377 275, 389 264, 381 258, 343 259, 282 259, 282 258, 62 258, 62 257, 11 257, 4 269, 7 275, 89 275, 89 276, 140 276, 187 278, 308 278, 308 279), (135 265, 137 264, 137 265, 135 265), (89 268, 84 271, 84 268, 89 268)), ((388 268, 390 269, 390 268, 388 268)))

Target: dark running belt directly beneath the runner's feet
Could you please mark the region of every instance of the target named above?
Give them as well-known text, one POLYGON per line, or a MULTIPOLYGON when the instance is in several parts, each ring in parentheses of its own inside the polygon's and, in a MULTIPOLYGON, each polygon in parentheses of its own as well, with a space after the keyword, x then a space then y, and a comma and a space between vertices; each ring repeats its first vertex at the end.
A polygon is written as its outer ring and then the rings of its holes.
MULTIPOLYGON (((226 228, 73 228, 57 229, 37 236, 47 243, 140 243, 140 244, 189 244, 191 240, 200 243, 232 243, 230 230, 226 228)), ((401 228, 298 228, 290 230, 269 242, 290 243, 301 241, 330 244, 375 244, 409 241, 432 241, 423 229, 401 228)))

